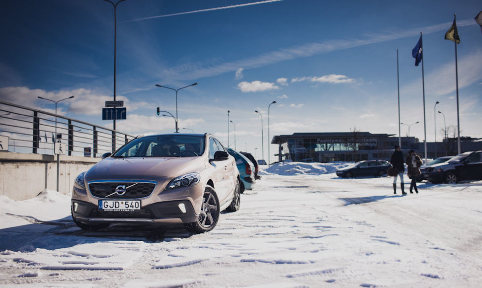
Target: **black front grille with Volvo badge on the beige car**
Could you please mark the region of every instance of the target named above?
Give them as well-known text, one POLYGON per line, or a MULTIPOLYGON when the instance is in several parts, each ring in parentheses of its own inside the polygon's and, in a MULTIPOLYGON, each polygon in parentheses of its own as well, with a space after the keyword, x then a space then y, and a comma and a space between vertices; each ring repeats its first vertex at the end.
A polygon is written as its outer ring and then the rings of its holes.
MULTIPOLYGON (((88 184, 90 193, 98 198, 138 199, 148 197, 154 191, 153 182, 94 182, 88 184), (125 188, 125 193, 117 193, 119 187, 125 188)), ((122 189, 121 189, 122 190, 122 189)))

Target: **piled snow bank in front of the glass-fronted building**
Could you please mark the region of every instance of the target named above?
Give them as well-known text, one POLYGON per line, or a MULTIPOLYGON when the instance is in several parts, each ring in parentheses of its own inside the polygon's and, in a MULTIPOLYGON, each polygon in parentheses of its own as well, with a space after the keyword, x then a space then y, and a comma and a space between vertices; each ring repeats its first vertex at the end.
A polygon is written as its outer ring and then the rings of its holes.
POLYGON ((335 173, 336 170, 352 165, 350 162, 304 163, 280 162, 267 167, 261 174, 267 175, 319 175, 335 173))

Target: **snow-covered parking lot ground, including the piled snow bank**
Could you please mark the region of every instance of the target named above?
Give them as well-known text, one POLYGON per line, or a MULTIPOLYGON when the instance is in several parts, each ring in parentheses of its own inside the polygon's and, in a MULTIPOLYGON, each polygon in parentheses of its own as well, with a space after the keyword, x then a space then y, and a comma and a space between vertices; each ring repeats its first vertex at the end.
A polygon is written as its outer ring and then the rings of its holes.
POLYGON ((264 166, 241 210, 198 235, 87 232, 69 195, 0 197, 0 286, 481 287, 482 181, 402 197, 392 178, 338 178, 345 165, 264 166))

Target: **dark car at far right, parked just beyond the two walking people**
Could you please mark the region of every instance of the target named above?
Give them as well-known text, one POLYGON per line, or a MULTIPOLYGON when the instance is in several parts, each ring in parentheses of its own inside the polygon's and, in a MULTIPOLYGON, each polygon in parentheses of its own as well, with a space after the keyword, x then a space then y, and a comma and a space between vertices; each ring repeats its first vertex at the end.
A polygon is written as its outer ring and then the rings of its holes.
POLYGON ((427 167, 425 179, 432 183, 457 183, 461 180, 482 180, 482 151, 469 151, 447 162, 427 167))

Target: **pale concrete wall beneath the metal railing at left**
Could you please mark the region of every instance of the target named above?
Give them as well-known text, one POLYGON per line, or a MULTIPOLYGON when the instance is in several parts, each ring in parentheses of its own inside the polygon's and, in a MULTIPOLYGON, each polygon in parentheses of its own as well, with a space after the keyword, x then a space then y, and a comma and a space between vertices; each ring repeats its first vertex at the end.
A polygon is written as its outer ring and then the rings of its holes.
MULTIPOLYGON (((60 155, 59 192, 70 194, 74 181, 100 158, 60 155)), ((12 200, 57 190, 57 156, 0 152, 0 195, 12 200)))

